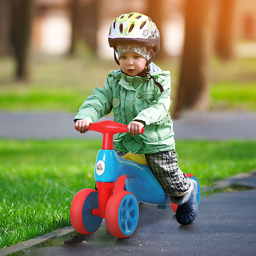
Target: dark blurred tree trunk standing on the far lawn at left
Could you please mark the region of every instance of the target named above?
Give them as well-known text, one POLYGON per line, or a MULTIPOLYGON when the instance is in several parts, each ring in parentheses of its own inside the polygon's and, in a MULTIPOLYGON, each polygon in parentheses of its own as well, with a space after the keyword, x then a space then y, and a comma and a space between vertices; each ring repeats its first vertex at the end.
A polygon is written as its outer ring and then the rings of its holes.
POLYGON ((16 61, 16 77, 29 77, 28 53, 34 0, 12 0, 12 43, 16 61))

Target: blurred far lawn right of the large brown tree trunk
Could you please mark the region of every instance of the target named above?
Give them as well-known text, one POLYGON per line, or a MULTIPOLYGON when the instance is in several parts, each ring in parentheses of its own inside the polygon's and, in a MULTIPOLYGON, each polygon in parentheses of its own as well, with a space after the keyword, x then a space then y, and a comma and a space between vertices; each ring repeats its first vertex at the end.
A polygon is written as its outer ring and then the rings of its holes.
POLYGON ((256 111, 256 59, 214 60, 210 95, 213 110, 256 111))

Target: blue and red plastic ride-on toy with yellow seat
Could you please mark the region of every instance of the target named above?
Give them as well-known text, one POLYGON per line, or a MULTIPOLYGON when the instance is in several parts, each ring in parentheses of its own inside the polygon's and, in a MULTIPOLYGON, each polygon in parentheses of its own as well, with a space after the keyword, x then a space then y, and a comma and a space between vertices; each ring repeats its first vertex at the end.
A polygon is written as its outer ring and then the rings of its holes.
MULTIPOLYGON (((133 234, 139 219, 139 203, 157 205, 160 209, 177 205, 146 165, 144 155, 128 153, 123 158, 113 150, 113 135, 126 133, 127 125, 102 121, 90 123, 88 130, 103 134, 102 149, 95 164, 97 190, 85 188, 73 198, 70 219, 73 228, 81 234, 96 232, 105 218, 108 231, 117 238, 133 234)), ((144 128, 142 130, 144 133, 144 128)), ((200 185, 192 174, 186 174, 197 182, 197 205, 200 201, 200 185)))

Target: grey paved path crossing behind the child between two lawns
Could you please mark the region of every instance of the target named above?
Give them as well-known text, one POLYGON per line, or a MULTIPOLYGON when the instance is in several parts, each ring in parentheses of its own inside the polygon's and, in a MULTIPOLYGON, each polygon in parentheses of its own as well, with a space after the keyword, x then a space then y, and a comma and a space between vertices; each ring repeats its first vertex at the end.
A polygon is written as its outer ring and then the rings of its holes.
MULTIPOLYGON (((95 132, 81 136, 74 130, 73 117, 73 113, 0 112, 0 137, 47 139, 101 136, 95 132)), ((256 139, 256 113, 184 112, 182 118, 173 120, 173 123, 177 139, 256 139)))

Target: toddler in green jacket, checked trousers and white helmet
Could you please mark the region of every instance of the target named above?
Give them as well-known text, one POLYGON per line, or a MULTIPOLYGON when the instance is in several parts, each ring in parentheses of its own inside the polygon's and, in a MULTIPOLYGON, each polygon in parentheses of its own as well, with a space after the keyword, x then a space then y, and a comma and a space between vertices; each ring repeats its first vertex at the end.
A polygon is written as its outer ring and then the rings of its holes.
POLYGON ((144 14, 125 13, 112 22, 109 44, 120 68, 86 98, 74 117, 75 128, 85 133, 90 122, 113 110, 114 120, 128 125, 128 133, 114 135, 114 149, 122 155, 145 154, 148 167, 178 205, 177 221, 190 224, 197 213, 197 183, 178 166, 169 114, 171 74, 152 62, 159 51, 158 28, 144 14))

